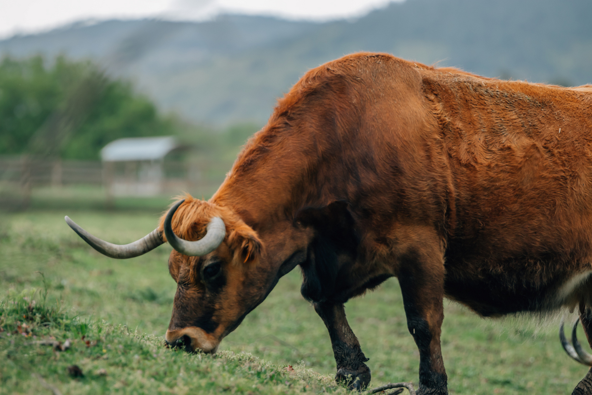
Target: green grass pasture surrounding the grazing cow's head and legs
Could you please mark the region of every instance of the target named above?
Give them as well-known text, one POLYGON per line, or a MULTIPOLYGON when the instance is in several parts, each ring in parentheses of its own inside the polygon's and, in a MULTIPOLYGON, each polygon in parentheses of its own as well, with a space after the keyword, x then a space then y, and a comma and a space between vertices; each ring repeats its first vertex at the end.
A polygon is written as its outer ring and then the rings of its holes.
MULTIPOLYGON (((106 258, 66 226, 65 214, 120 243, 146 235, 159 217, 156 211, 0 214, 0 394, 50 394, 52 386, 62 394, 347 392, 332 383, 329 336, 300 296, 298 269, 224 339, 217 355, 189 355, 162 342, 176 287, 166 265, 170 247, 125 261, 106 258), (59 352, 39 343, 50 336, 72 345, 59 352), (84 376, 74 377, 72 365, 84 376)), ((349 301, 346 312, 370 358, 371 386, 417 383, 419 355, 397 280, 349 301)), ((571 393, 587 368, 565 355, 557 327, 557 320, 484 320, 445 301, 449 390, 571 393)))

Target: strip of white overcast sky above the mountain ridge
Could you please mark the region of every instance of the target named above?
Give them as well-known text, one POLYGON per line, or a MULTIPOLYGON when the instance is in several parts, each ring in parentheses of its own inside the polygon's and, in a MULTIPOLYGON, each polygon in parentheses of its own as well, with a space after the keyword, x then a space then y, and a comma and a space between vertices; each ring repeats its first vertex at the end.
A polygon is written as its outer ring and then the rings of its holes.
MULTIPOLYGON (((401 0, 395 0, 401 1, 401 0)), ((0 37, 36 33, 80 20, 204 20, 220 12, 290 19, 354 18, 390 0, 0 0, 0 37)))

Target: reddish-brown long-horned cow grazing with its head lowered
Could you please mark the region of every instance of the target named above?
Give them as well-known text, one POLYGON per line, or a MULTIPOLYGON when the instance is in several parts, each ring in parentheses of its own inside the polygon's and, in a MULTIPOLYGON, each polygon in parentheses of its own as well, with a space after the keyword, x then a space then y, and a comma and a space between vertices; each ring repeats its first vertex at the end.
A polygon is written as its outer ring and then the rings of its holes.
MULTIPOLYGON (((353 54, 294 85, 210 200, 187 196, 123 247, 72 226, 116 258, 166 236, 178 287, 165 338, 191 351, 215 352, 300 265, 336 379, 358 388, 370 370, 343 303, 397 277, 418 393, 446 394, 445 296, 484 317, 578 307, 592 339, 592 86, 353 54)), ((588 372, 574 394, 591 388, 588 372)))

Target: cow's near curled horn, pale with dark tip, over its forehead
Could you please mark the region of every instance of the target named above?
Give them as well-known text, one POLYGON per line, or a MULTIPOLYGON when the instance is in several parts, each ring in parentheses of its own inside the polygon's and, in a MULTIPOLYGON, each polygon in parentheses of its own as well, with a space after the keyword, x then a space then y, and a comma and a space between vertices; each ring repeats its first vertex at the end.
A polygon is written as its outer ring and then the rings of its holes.
POLYGON ((226 226, 224 226, 224 221, 220 217, 211 219, 206 227, 207 233, 205 236, 194 242, 180 239, 173 232, 171 226, 173 215, 184 201, 185 199, 179 200, 166 214, 164 224, 166 240, 176 251, 181 252, 183 255, 201 256, 214 251, 218 248, 222 240, 224 240, 224 237, 226 237, 226 226))

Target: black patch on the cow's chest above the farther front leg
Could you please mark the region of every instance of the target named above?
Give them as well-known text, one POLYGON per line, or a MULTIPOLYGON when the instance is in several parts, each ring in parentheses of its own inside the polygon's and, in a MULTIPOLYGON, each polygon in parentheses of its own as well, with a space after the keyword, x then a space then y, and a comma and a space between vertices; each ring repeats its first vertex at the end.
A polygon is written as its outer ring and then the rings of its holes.
POLYGON ((306 300, 324 301, 334 294, 340 266, 355 261, 358 255, 355 221, 343 201, 322 208, 304 208, 295 221, 315 230, 307 259, 300 264, 304 277, 300 291, 306 300))

